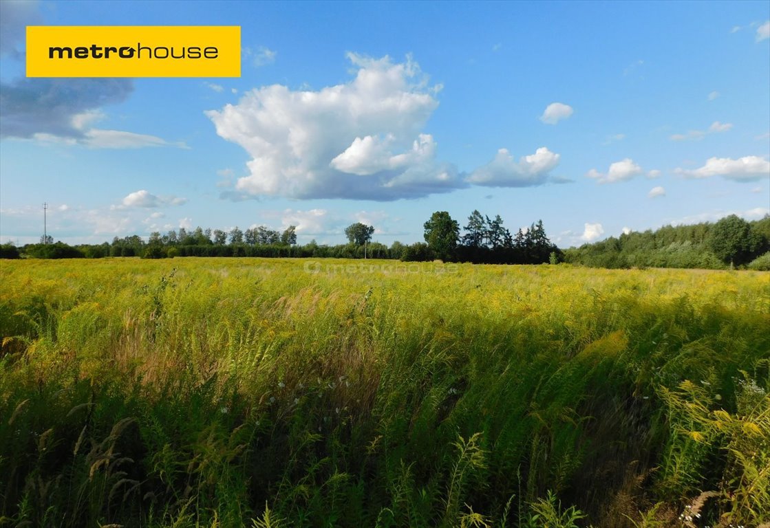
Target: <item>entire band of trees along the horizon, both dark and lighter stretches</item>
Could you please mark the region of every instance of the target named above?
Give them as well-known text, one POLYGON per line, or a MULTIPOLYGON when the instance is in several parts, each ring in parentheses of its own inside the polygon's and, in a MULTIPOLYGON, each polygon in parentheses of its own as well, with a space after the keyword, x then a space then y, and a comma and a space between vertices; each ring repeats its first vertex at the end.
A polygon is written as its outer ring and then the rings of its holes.
POLYGON ((0 258, 72 259, 142 257, 162 259, 184 256, 235 256, 338 259, 401 259, 409 262, 440 259, 444 262, 489 264, 541 264, 569 262, 597 268, 748 268, 770 270, 770 216, 747 222, 727 216, 718 222, 691 226, 665 226, 656 231, 629 232, 578 248, 559 249, 540 220, 512 234, 500 215, 490 219, 474 211, 467 225, 446 211, 437 211, 423 225, 425 242, 388 247, 372 242, 373 226, 356 222, 345 229, 349 240, 336 246, 311 241, 296 243, 296 228, 283 231, 259 226, 229 232, 220 229, 192 231, 184 228, 165 235, 153 232, 147 241, 137 235, 115 237, 112 243, 68 246, 49 237, 39 244, 17 248, 0 246, 0 258))

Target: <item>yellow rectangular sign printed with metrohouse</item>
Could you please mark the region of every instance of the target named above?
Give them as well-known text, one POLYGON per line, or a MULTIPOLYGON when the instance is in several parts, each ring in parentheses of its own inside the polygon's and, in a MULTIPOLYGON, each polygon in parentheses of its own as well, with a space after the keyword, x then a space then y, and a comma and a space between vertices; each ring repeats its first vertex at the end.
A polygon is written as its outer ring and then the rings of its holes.
POLYGON ((240 77, 238 25, 28 25, 27 77, 240 77))

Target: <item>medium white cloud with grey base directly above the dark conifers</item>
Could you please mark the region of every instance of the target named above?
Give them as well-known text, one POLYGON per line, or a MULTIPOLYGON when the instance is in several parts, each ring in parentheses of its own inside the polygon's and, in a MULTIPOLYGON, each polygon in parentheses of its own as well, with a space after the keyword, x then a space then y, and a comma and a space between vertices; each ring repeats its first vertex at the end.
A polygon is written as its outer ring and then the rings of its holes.
POLYGON ((474 170, 467 181, 489 187, 542 185, 547 181, 548 172, 559 164, 560 157, 546 147, 541 147, 517 162, 507 149, 500 149, 491 162, 474 170))

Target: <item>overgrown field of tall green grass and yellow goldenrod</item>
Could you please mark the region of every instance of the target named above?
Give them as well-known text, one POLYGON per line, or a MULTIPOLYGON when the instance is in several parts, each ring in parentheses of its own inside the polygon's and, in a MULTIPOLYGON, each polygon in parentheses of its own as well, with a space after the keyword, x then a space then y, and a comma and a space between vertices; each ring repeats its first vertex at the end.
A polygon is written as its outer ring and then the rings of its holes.
POLYGON ((770 522, 768 272, 105 259, 0 285, 0 526, 770 522))

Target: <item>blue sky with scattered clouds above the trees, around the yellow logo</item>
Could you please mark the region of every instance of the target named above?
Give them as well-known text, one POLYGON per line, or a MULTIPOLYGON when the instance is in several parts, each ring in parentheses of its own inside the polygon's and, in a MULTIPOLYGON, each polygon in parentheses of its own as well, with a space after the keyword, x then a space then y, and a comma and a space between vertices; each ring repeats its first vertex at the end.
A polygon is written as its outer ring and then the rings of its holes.
POLYGON ((568 247, 770 212, 770 2, 0 2, 0 240, 568 247), (25 25, 240 25, 239 79, 25 79, 25 25))

